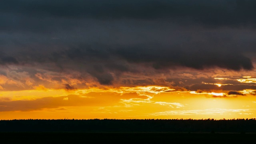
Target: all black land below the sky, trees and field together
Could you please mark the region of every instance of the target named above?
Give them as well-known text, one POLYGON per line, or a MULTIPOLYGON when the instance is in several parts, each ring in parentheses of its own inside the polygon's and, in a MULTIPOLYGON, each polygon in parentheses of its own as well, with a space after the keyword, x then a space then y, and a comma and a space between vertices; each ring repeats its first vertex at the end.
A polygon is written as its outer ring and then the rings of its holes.
POLYGON ((256 120, 0 120, 0 144, 256 144, 256 120))

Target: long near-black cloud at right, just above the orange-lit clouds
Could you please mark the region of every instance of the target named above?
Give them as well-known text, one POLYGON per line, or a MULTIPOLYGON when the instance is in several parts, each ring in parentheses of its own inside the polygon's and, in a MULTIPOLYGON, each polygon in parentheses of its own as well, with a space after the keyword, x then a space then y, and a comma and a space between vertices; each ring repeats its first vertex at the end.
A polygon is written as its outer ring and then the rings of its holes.
POLYGON ((253 68, 249 58, 241 54, 223 52, 222 50, 205 50, 195 48, 186 50, 183 48, 161 48, 160 46, 134 47, 118 49, 117 53, 130 62, 153 62, 153 67, 165 68, 168 66, 187 66, 190 68, 203 69, 212 66, 231 70, 253 68))

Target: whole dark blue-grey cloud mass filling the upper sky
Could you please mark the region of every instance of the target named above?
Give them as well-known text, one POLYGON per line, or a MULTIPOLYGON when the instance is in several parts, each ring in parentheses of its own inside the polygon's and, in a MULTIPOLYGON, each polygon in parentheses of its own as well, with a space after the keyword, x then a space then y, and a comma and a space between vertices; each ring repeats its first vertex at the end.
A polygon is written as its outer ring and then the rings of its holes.
POLYGON ((0 64, 76 70, 106 85, 142 65, 252 70, 255 7, 254 0, 2 0, 0 64))

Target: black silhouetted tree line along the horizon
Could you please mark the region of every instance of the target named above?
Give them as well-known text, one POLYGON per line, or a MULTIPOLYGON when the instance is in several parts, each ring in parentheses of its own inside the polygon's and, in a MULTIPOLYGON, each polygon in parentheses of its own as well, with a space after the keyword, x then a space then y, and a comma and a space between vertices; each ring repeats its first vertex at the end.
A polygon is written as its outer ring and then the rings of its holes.
POLYGON ((256 132, 256 119, 0 120, 0 132, 256 132))

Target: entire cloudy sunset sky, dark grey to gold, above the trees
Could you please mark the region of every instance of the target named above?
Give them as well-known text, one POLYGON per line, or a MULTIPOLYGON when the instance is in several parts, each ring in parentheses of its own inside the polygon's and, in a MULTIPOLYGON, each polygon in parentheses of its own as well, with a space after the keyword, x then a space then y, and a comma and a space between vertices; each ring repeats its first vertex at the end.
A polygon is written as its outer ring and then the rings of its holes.
POLYGON ((256 118, 255 0, 2 0, 0 119, 256 118))

